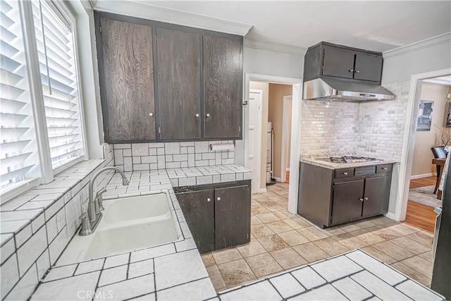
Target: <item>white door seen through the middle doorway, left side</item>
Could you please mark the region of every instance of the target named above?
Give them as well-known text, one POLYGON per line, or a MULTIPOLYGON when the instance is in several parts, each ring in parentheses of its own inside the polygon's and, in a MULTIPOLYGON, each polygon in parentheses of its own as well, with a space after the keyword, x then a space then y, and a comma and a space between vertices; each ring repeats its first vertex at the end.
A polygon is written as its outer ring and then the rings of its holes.
POLYGON ((249 169, 252 171, 251 193, 260 191, 261 171, 261 105, 263 101, 262 90, 250 90, 249 92, 249 169))

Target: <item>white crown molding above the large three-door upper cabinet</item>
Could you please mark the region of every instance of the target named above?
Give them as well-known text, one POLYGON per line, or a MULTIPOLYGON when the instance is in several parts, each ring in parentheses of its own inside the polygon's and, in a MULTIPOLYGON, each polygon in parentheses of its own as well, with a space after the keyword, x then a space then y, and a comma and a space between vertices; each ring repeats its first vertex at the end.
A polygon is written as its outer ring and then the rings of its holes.
POLYGON ((145 1, 120 0, 113 1, 114 5, 111 5, 111 0, 91 0, 91 3, 97 11, 225 32, 232 35, 245 36, 252 28, 252 25, 154 6, 146 4, 145 1))

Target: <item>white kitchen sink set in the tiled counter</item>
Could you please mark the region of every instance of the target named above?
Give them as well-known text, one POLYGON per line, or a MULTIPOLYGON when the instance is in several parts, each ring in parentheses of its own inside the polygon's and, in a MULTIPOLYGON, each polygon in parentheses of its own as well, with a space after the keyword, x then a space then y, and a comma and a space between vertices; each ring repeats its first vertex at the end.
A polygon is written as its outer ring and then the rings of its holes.
POLYGON ((57 265, 132 252, 178 240, 165 193, 104 201, 104 217, 92 235, 75 235, 57 265))

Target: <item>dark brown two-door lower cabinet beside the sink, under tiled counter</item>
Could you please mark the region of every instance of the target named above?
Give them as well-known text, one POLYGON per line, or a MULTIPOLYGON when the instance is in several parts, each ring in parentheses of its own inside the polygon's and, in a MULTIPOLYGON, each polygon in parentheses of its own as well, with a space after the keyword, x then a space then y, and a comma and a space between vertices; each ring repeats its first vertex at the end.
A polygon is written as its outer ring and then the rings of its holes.
POLYGON ((250 181, 175 188, 200 253, 250 241, 250 181))

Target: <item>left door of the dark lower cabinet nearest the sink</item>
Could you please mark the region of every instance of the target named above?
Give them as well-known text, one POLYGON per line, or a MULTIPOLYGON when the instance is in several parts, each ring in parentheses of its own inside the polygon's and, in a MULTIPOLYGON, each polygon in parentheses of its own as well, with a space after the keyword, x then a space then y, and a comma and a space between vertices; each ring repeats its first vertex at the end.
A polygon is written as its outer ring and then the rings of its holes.
POLYGON ((213 197, 213 190, 177 194, 180 208, 200 253, 215 250, 213 197))

